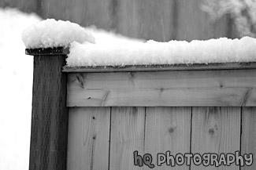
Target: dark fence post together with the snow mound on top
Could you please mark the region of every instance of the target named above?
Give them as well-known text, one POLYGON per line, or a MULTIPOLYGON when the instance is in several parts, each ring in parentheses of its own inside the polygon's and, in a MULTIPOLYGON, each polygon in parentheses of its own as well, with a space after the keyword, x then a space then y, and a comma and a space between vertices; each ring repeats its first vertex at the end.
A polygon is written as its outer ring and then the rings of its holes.
POLYGON ((71 42, 94 42, 91 34, 68 21, 44 20, 22 35, 26 54, 34 56, 32 133, 29 169, 66 169, 68 109, 66 74, 71 42))

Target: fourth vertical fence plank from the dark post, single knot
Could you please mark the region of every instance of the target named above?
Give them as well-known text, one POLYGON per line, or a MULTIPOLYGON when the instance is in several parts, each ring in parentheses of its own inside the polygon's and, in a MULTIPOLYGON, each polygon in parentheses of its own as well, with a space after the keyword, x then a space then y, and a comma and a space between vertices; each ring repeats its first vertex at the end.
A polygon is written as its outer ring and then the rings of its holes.
MULTIPOLYGON (((240 111, 240 107, 193 107, 191 153, 235 154, 240 147, 240 111)), ((191 170, 196 169, 239 170, 239 166, 191 164, 191 170)))

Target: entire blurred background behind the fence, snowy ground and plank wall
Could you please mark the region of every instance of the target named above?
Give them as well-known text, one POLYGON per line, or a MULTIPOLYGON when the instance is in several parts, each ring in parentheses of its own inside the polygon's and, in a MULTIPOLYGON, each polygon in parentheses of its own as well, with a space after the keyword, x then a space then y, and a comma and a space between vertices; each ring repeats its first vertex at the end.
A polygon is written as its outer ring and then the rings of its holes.
POLYGON ((255 0, 0 0, 1 170, 28 169, 33 57, 21 34, 46 18, 93 25, 98 42, 256 37, 255 0))

